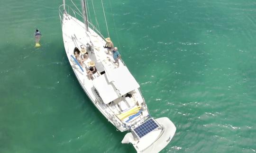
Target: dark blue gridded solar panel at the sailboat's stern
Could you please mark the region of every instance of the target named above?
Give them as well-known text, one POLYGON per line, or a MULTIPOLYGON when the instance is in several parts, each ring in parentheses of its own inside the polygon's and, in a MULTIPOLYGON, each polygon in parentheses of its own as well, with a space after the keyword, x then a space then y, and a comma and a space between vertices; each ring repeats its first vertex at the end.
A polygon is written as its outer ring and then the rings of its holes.
POLYGON ((158 124, 155 123, 155 121, 151 118, 148 119, 146 122, 142 123, 140 126, 134 128, 133 130, 137 134, 137 136, 141 138, 157 127, 159 127, 158 124))

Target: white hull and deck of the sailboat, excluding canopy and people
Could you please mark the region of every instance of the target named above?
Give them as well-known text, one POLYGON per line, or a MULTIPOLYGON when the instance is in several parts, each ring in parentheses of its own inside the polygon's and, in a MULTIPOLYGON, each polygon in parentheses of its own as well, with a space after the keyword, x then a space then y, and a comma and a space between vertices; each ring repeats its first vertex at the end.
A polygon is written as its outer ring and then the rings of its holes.
MULTIPOLYGON (((96 67, 98 71, 104 71, 105 67, 108 67, 109 69, 115 69, 116 65, 113 64, 111 61, 113 61, 113 58, 111 55, 106 54, 107 50, 103 48, 105 45, 105 41, 96 34, 93 30, 89 29, 89 32, 87 32, 83 27, 83 23, 79 20, 77 20, 74 17, 71 17, 68 14, 64 14, 63 17, 63 25, 62 25, 62 31, 63 31, 63 40, 64 40, 64 48, 67 54, 67 57, 69 59, 70 65, 73 68, 74 74, 77 77, 78 82, 82 86, 82 89, 87 94, 87 96, 90 98, 91 102, 101 111, 101 113, 115 126, 118 130, 121 132, 126 131, 130 129, 129 125, 124 125, 122 121, 116 116, 117 114, 114 114, 109 108, 108 104, 102 104, 102 102, 97 101, 97 95, 94 91, 94 85, 93 81, 91 79, 88 79, 86 77, 86 69, 79 68, 79 66, 73 61, 71 58, 71 55, 73 55, 73 49, 74 47, 80 47, 80 45, 86 46, 87 43, 92 43, 94 46, 94 51, 89 52, 89 59, 84 62, 85 67, 86 63, 88 61, 95 61, 96 67), (110 59, 107 60, 107 59, 110 59), (101 63, 104 65, 102 66, 101 63)), ((126 66, 123 64, 122 61, 119 61, 119 68, 126 66)), ((94 74, 94 77, 99 77, 101 74, 98 72, 97 74, 94 74)), ((106 91, 107 92, 107 91, 106 91)), ((136 92, 136 98, 137 101, 141 101, 140 106, 145 107, 145 110, 143 110, 142 115, 140 119, 145 118, 148 116, 148 110, 146 109, 146 105, 142 106, 142 103, 144 102, 144 98, 139 92, 139 89, 136 89, 134 92, 136 92)), ((111 105, 112 106, 112 105, 111 105)), ((118 105, 117 105, 118 106, 118 105)), ((118 110, 117 110, 118 111, 118 110)), ((119 110, 121 112, 121 110, 119 110)), ((140 119, 137 119, 139 121, 140 119)))

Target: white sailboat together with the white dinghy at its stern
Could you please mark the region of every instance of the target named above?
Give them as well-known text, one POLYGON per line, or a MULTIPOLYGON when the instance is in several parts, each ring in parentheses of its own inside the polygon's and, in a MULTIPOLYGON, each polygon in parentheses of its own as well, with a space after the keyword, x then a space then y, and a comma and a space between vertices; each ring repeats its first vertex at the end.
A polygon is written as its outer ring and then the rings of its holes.
POLYGON ((138 153, 160 152, 174 136, 174 123, 166 117, 150 116, 136 79, 122 59, 118 59, 119 65, 114 62, 103 47, 106 44, 103 35, 89 22, 88 3, 81 0, 82 12, 73 5, 76 9, 63 0, 59 15, 67 59, 84 93, 116 129, 128 131, 121 143, 131 143, 138 153), (88 58, 79 61, 74 55, 75 47, 86 50, 88 58), (91 66, 96 73, 87 77, 91 66))

